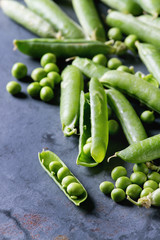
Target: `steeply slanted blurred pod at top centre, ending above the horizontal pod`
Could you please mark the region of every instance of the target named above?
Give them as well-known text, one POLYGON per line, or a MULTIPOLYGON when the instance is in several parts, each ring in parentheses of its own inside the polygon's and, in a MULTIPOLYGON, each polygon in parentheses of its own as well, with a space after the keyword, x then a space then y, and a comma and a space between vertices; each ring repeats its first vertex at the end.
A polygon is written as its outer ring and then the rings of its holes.
POLYGON ((104 42, 105 30, 99 19, 93 0, 72 0, 74 11, 86 36, 104 42))

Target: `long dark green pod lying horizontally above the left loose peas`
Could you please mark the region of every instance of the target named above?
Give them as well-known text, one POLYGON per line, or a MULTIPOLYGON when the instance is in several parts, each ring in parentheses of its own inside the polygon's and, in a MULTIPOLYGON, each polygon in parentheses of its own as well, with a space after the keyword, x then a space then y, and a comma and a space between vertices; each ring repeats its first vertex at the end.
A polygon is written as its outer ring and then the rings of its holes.
POLYGON ((15 48, 24 54, 41 58, 45 53, 54 53, 58 58, 73 56, 92 58, 96 54, 112 54, 116 49, 108 43, 91 40, 28 39, 14 40, 15 48))

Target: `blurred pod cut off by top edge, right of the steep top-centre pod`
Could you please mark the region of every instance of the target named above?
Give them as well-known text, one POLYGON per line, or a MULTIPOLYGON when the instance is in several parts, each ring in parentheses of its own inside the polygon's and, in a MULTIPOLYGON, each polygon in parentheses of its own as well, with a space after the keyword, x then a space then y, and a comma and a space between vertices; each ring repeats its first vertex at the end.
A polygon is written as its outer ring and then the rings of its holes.
POLYGON ((101 0, 101 2, 123 13, 142 14, 142 8, 135 0, 101 0))

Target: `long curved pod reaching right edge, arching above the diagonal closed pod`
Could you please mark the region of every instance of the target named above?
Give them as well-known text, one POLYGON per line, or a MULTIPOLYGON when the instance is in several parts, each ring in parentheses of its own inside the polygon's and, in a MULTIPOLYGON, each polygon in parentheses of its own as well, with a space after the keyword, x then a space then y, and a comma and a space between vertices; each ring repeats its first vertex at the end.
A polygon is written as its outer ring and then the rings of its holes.
POLYGON ((116 70, 105 73, 100 82, 107 87, 116 88, 160 113, 160 89, 151 83, 127 72, 116 70))

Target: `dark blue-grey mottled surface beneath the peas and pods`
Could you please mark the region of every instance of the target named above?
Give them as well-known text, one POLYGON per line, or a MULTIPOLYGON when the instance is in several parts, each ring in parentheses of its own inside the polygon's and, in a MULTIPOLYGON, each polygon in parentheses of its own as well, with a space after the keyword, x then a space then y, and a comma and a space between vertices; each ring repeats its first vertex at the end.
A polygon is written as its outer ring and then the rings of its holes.
MULTIPOLYGON (((64 9, 75 18, 70 6, 64 9)), ((104 14, 107 10, 103 4, 98 9, 104 14)), ((26 82, 21 82, 20 97, 6 92, 15 62, 25 63, 29 74, 39 66, 38 61, 13 51, 13 39, 32 37, 0 10, 0 240, 160 239, 159 209, 137 208, 127 201, 117 204, 99 191, 99 184, 110 180, 114 166, 125 165, 130 175, 132 164, 113 159, 93 169, 77 166, 78 137, 63 136, 58 101, 33 100, 27 95, 26 82), (41 168, 37 154, 44 147, 55 152, 84 184, 89 198, 81 207, 71 203, 41 168)), ((147 73, 138 58, 128 56, 122 61, 147 73)), ((138 113, 142 111, 137 102, 134 106, 138 113)), ((149 135, 158 133, 159 116, 146 128, 149 135)), ((110 139, 107 155, 125 146, 120 133, 110 139)))

